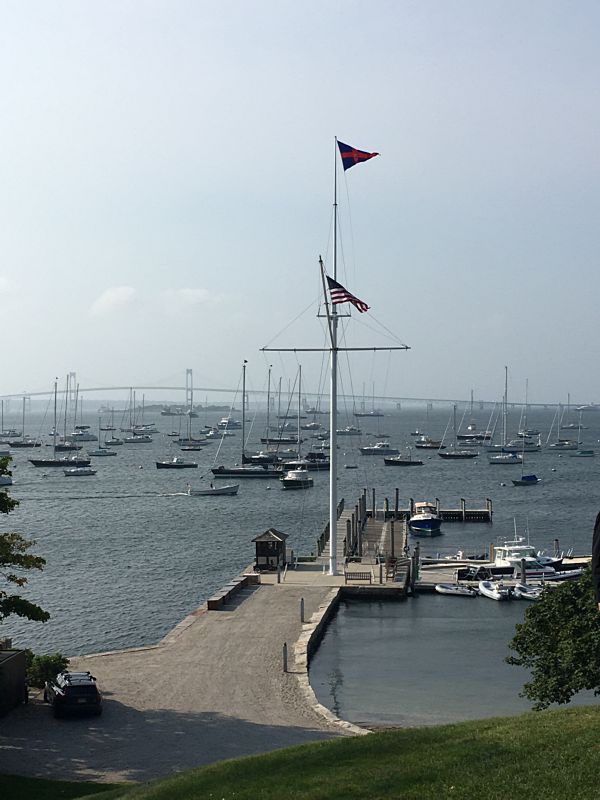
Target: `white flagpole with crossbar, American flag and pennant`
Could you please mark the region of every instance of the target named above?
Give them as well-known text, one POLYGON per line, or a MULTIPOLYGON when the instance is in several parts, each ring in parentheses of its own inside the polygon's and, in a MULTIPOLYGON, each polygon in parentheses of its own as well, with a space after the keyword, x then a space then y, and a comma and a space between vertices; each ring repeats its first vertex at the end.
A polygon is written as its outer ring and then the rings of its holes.
MULTIPOLYGON (((337 575, 337 520, 338 520, 338 496, 337 496, 337 467, 338 467, 338 453, 337 453, 337 382, 338 382, 338 355, 342 351, 358 351, 368 350, 373 352, 376 349, 385 350, 408 350, 406 345, 385 348, 373 347, 339 347, 338 346, 338 325, 340 318, 348 316, 347 314, 339 314, 337 306, 340 304, 350 303, 360 313, 368 311, 368 305, 360 300, 358 297, 349 292, 337 280, 337 217, 338 217, 338 204, 337 204, 337 170, 338 170, 338 156, 341 157, 344 170, 350 169, 355 164, 367 161, 370 158, 378 155, 377 153, 369 153, 364 150, 357 150, 350 147, 343 142, 335 139, 335 168, 334 168, 334 190, 333 190, 333 277, 326 275, 323 260, 319 258, 319 269, 321 281, 323 285, 323 298, 325 307, 325 317, 327 319, 327 331, 329 335, 329 347, 325 348, 325 352, 329 352, 330 364, 330 391, 329 391, 329 453, 330 453, 330 469, 329 469, 329 574, 337 575)), ((315 348, 271 348, 263 347, 263 352, 315 352, 315 348)))

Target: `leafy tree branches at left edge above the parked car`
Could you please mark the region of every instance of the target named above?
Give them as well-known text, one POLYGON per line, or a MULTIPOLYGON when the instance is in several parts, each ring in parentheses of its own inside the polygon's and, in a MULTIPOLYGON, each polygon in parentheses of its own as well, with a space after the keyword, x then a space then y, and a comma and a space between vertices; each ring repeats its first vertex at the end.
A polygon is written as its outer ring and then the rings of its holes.
MULTIPOLYGON (((8 468, 9 462, 10 458, 0 458, 0 475, 12 474, 8 468)), ((17 505, 18 501, 10 497, 8 492, 0 491, 1 513, 10 514, 17 505)), ((34 544, 20 533, 0 533, 0 579, 6 582, 6 588, 0 586, 0 623, 11 614, 36 622, 46 622, 50 618, 50 614, 35 603, 18 594, 9 594, 13 586, 25 586, 25 571, 44 568, 46 559, 29 552, 34 544)))

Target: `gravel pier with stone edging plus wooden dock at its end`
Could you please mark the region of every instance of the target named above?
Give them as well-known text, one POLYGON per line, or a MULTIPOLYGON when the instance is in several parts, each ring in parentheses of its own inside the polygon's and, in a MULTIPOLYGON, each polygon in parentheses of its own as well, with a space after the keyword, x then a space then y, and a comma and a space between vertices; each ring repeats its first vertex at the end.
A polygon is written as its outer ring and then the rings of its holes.
POLYGON ((72 658, 71 669, 97 677, 102 718, 73 737, 41 693, 32 696, 0 728, 3 770, 148 781, 274 747, 368 733, 320 705, 310 686, 310 658, 328 621, 346 596, 406 602, 415 590, 433 590, 433 581, 453 580, 456 565, 422 570, 417 582, 418 548, 408 550, 406 520, 370 506, 366 493, 354 506, 340 503, 334 535, 336 575, 328 574, 326 528, 311 555, 294 554, 273 571, 250 564, 157 644, 72 658))

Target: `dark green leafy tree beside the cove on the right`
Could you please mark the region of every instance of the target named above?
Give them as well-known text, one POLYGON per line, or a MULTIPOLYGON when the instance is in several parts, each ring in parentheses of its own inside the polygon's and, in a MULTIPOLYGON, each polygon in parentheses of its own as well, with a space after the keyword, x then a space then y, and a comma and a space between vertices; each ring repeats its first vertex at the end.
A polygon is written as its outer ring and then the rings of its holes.
POLYGON ((600 614, 590 569, 577 581, 547 587, 516 631, 509 647, 517 655, 506 661, 531 672, 521 696, 534 709, 568 703, 584 689, 600 694, 600 614))

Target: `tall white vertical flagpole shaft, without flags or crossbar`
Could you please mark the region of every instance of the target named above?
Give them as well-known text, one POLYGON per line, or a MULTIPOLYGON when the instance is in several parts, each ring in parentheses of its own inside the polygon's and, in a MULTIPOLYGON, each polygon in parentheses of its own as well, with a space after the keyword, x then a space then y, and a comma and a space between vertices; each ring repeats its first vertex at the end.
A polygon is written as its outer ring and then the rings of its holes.
MULTIPOLYGON (((333 169, 333 279, 337 280, 337 136, 333 169)), ((331 305, 331 379, 329 386, 329 574, 337 575, 337 326, 338 316, 331 305)))

